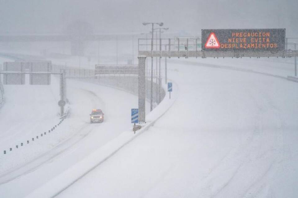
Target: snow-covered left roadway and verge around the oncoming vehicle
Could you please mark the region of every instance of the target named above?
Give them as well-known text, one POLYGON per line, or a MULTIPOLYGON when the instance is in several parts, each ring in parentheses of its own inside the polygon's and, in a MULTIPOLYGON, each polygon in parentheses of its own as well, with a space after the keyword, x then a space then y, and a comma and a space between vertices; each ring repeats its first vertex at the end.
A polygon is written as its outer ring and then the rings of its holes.
POLYGON ((131 127, 130 109, 138 105, 136 96, 68 80, 71 114, 50 134, 40 137, 59 122, 58 82, 52 77, 50 86, 4 86, 0 147, 13 150, 0 155, 0 197, 24 197, 131 127), (89 114, 94 108, 103 110, 104 123, 90 124, 89 114), (31 141, 37 135, 39 139, 31 141))

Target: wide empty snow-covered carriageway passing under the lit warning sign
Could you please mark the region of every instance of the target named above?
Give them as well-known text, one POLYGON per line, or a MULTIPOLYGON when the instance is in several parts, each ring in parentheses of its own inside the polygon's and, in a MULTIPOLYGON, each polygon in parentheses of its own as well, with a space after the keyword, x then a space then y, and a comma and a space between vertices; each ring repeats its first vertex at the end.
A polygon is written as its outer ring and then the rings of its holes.
POLYGON ((183 60, 169 78, 179 96, 154 127, 57 197, 298 194, 297 83, 183 60))

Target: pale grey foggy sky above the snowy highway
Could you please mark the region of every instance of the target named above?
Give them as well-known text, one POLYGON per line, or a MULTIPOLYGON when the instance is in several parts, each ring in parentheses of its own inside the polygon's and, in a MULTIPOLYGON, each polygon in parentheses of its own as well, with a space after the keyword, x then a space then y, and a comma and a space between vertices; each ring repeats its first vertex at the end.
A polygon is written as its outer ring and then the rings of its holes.
POLYGON ((171 32, 202 28, 286 28, 298 36, 298 1, 0 0, 0 33, 64 33, 81 20, 96 33, 146 32, 142 22, 164 22, 171 32))

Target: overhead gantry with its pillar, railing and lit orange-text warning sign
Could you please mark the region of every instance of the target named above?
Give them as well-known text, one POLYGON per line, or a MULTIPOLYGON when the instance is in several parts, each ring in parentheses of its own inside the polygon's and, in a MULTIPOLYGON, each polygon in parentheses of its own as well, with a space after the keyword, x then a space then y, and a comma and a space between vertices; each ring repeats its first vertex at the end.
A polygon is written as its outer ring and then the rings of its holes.
POLYGON ((179 37, 174 39, 138 40, 138 109, 140 123, 145 122, 145 59, 147 57, 285 58, 298 56, 298 50, 285 49, 285 29, 202 29, 201 33, 201 41, 198 38, 179 37), (153 42, 153 40, 157 40, 157 42, 153 42), (151 45, 148 43, 151 43, 151 45), (153 43, 156 43, 156 46, 153 46, 153 43))

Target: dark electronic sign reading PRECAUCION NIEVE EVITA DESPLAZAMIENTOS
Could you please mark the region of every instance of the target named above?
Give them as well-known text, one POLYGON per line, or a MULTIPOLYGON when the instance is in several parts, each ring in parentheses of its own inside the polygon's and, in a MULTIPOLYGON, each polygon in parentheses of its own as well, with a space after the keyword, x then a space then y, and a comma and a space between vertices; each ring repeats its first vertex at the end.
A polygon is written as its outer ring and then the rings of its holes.
POLYGON ((285 50, 286 29, 202 29, 202 51, 285 50))

